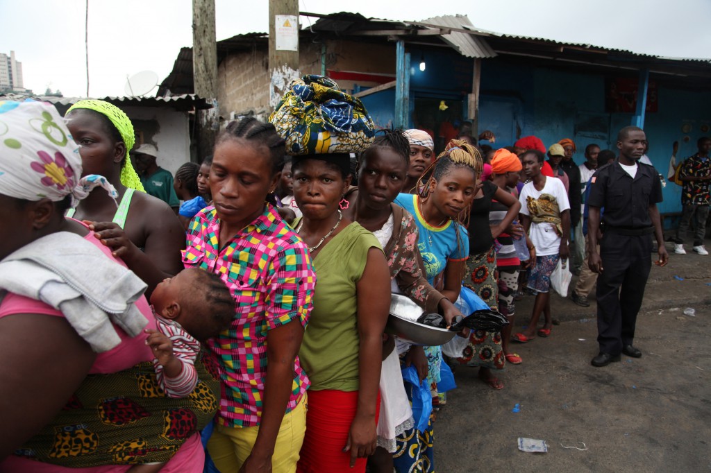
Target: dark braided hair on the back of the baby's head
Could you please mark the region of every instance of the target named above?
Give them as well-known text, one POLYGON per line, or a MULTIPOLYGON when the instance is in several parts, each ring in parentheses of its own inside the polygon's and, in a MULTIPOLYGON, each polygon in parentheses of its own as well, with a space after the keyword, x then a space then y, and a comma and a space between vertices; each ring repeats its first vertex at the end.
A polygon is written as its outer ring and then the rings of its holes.
POLYGON ((235 299, 225 281, 215 273, 199 268, 188 268, 184 271, 195 271, 196 290, 194 297, 189 298, 186 310, 203 314, 200 334, 193 337, 205 340, 216 337, 220 332, 230 327, 235 317, 235 299))

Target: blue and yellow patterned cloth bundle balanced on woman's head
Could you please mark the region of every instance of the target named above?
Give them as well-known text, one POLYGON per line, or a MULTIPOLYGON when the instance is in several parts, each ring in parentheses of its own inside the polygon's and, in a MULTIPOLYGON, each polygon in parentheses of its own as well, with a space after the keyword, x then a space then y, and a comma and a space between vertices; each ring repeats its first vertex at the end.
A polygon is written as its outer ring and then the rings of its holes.
POLYGON ((328 77, 294 79, 269 116, 287 142, 287 153, 360 153, 375 138, 375 124, 360 99, 341 92, 328 77))

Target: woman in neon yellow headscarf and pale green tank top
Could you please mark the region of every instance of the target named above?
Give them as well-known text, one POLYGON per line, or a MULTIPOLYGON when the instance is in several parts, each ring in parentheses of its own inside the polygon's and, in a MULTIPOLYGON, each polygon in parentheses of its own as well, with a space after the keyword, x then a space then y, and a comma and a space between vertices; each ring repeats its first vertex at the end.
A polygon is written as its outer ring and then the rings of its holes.
POLYGON ((95 222, 92 227, 102 241, 112 248, 120 246, 114 254, 124 259, 149 288, 162 281, 165 273, 181 271, 185 232, 165 202, 142 192, 129 159, 135 138, 128 116, 108 102, 82 100, 65 118, 80 146, 85 173, 104 175, 119 193, 117 208, 105 192, 91 192, 70 217, 95 222), (132 244, 125 241, 126 237, 132 244))

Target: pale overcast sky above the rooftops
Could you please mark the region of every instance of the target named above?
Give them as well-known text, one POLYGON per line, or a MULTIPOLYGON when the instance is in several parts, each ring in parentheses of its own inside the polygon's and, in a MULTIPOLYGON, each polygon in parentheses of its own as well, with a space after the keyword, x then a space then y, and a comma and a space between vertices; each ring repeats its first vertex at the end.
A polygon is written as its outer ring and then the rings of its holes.
MULTIPOLYGON (((85 97, 85 0, 0 0, 0 53, 14 50, 24 85, 85 97)), ((267 0, 216 0, 217 39, 266 32, 267 0)), ((491 31, 676 58, 711 58, 711 0, 299 0, 301 11, 355 11, 417 21, 462 13, 491 31)), ((311 21, 315 21, 312 19, 311 21)), ((192 43, 191 0, 90 0, 89 93, 124 95, 128 75, 162 81, 192 43)), ((302 26, 308 20, 301 17, 302 26)))

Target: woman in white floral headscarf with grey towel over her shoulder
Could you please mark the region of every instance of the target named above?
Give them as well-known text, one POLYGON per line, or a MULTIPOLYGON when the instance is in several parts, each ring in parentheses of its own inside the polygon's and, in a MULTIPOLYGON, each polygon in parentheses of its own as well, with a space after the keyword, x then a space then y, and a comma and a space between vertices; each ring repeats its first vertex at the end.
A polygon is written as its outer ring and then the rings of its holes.
POLYGON ((94 194, 116 207, 82 158, 52 105, 0 102, 0 471, 201 472, 218 379, 200 359, 196 398, 159 390, 146 284, 64 217, 94 194))

